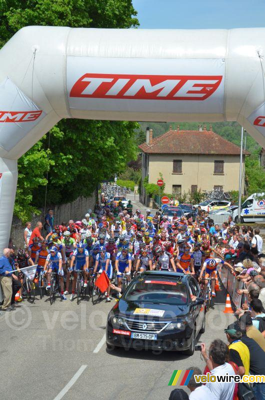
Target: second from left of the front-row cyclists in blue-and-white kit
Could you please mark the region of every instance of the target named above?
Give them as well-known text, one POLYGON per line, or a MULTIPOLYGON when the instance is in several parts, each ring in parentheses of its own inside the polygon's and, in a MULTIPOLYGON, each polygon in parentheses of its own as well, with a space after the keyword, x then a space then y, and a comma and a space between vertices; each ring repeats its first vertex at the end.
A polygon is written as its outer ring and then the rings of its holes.
POLYGON ((77 243, 76 249, 73 251, 71 262, 70 262, 70 271, 73 270, 73 281, 72 281, 72 292, 70 295, 70 300, 73 299, 75 293, 75 286, 76 286, 76 278, 77 278, 77 270, 83 270, 84 273, 84 284, 83 287, 87 287, 87 273, 88 271, 88 261, 89 261, 89 254, 88 251, 85 250, 83 243, 77 243), (73 268, 73 263, 75 261, 75 265, 73 268))

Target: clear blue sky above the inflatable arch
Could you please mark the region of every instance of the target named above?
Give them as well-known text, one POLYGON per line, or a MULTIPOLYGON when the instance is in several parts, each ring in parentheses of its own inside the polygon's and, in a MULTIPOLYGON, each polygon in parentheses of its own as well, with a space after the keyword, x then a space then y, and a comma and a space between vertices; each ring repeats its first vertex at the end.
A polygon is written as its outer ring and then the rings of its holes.
POLYGON ((265 0, 132 0, 140 28, 265 27, 265 0))

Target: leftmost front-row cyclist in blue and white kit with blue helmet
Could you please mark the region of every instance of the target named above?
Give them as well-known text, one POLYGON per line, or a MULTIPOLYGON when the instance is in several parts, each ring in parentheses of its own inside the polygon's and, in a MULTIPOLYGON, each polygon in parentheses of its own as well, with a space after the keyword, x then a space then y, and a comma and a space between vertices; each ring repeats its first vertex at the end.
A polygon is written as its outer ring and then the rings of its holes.
POLYGON ((66 300, 65 295, 63 294, 63 269, 62 269, 62 257, 61 253, 57 250, 57 247, 52 246, 49 254, 47 255, 43 275, 47 270, 47 286, 46 289, 50 289, 50 272, 56 272, 59 275, 60 280, 60 298, 61 300, 66 300))

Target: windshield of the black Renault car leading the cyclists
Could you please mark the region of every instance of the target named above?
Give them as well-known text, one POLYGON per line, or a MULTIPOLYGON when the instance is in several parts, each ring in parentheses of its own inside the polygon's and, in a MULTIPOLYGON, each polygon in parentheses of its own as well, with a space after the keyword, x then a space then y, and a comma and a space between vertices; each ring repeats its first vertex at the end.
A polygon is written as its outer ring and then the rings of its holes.
POLYGON ((170 280, 146 279, 132 282, 124 296, 126 301, 154 304, 180 305, 187 302, 187 290, 183 283, 170 280))

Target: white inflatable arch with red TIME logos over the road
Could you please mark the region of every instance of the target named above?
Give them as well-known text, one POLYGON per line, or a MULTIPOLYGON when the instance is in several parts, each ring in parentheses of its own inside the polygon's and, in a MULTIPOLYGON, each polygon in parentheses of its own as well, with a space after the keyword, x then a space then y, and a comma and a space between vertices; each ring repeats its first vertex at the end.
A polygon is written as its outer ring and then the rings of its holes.
POLYGON ((28 26, 0 50, 0 251, 17 158, 61 118, 237 120, 265 144, 265 28, 28 26))

